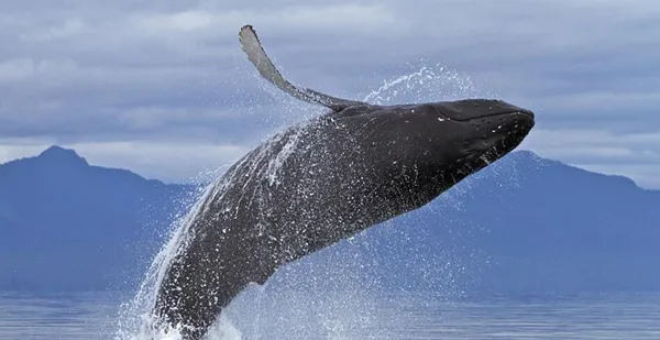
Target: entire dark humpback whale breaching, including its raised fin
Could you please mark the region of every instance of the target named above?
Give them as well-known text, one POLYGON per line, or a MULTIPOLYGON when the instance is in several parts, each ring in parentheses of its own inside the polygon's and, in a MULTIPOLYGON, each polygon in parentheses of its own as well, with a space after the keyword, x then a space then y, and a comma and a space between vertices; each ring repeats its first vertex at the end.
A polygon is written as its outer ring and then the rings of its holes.
POLYGON ((494 99, 376 106, 295 86, 251 25, 239 41, 258 74, 327 112, 264 141, 227 169, 163 271, 160 325, 200 339, 248 285, 296 259, 418 209, 516 149, 530 110, 494 99))

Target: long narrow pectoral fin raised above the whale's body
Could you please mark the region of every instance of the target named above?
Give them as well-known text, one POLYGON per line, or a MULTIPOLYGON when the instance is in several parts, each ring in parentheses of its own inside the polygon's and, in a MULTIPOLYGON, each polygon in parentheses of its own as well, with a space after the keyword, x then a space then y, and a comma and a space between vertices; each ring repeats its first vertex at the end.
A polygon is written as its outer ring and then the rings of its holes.
POLYGON ((299 88, 287 81, 282 74, 277 70, 271 58, 266 55, 266 52, 261 45, 256 32, 252 25, 244 25, 241 28, 239 33, 239 41, 243 52, 248 54, 248 59, 256 67, 260 75, 268 80, 271 84, 277 86, 280 90, 289 94, 290 96, 300 99, 306 102, 321 105, 333 111, 341 111, 349 107, 365 106, 367 103, 354 100, 348 100, 328 96, 311 89, 299 88))

